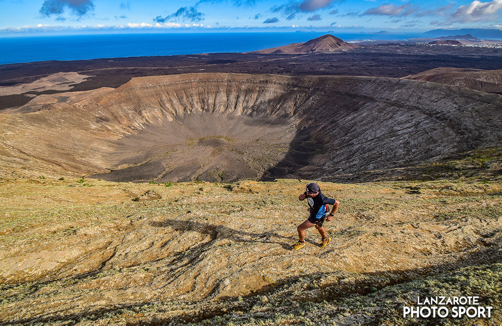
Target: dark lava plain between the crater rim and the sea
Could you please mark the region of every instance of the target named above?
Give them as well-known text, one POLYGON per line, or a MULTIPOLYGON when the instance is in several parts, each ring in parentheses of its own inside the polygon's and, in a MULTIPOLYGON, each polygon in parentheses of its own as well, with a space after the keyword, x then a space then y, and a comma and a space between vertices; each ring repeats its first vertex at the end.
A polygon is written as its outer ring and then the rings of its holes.
MULTIPOLYGON (((72 91, 116 88, 133 77, 185 73, 245 73, 288 76, 335 75, 401 78, 438 67, 502 69, 497 48, 429 46, 391 43, 361 44, 350 51, 312 55, 211 53, 165 57, 108 58, 79 61, 44 61, 0 66, 0 86, 30 83, 57 72, 92 75, 72 91)), ((57 91, 29 92, 53 94, 57 91)), ((0 109, 21 106, 31 97, 0 97, 0 109)))

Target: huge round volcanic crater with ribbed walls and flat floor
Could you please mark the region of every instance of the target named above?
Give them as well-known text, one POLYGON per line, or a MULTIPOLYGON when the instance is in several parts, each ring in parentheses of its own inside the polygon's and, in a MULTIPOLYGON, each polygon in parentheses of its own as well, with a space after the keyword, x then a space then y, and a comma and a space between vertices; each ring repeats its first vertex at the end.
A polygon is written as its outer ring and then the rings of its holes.
POLYGON ((0 176, 398 178, 400 168, 500 144, 500 107, 496 94, 407 79, 135 78, 37 96, 0 114, 0 176))

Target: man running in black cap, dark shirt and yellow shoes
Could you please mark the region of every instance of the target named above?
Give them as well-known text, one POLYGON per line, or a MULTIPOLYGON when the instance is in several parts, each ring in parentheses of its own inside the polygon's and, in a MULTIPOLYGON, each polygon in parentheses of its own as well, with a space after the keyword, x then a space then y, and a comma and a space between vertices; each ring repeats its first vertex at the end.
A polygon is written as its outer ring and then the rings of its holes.
POLYGON ((305 198, 307 198, 307 203, 309 204, 310 217, 298 226, 297 231, 300 239, 293 245, 293 249, 297 250, 305 246, 305 230, 313 226, 321 234, 321 248, 324 248, 331 241, 331 238, 326 234, 326 230, 322 224, 324 220, 331 221, 333 219, 333 214, 338 210, 340 202, 324 196, 321 193, 319 185, 315 183, 308 184, 305 193, 298 197, 299 200, 304 200, 305 198), (326 218, 326 213, 329 212, 328 204, 333 205, 333 208, 326 218))

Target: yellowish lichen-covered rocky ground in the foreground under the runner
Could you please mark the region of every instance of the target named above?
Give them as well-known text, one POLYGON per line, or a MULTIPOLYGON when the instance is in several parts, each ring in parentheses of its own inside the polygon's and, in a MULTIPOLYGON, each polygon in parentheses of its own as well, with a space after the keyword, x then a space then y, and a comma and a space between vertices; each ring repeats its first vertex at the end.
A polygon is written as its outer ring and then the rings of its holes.
POLYGON ((332 241, 307 232, 308 181, 5 179, 2 324, 498 325, 502 181, 320 183, 332 241), (403 318, 417 296, 479 296, 490 318, 403 318))

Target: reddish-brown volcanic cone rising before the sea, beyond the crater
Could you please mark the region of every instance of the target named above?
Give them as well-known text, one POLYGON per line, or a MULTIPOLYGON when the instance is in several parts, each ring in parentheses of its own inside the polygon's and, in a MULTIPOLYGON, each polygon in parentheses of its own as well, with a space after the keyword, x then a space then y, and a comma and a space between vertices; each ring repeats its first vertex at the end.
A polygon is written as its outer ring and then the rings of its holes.
POLYGON ((329 53, 339 50, 357 48, 357 45, 344 42, 342 39, 333 35, 323 35, 317 39, 305 43, 293 43, 282 47, 258 50, 254 53, 264 54, 311 54, 311 53, 329 53))

